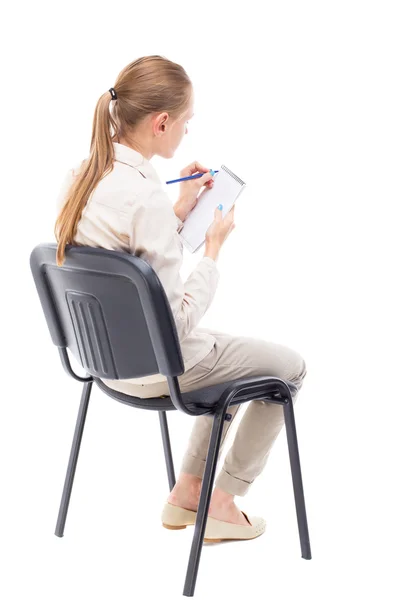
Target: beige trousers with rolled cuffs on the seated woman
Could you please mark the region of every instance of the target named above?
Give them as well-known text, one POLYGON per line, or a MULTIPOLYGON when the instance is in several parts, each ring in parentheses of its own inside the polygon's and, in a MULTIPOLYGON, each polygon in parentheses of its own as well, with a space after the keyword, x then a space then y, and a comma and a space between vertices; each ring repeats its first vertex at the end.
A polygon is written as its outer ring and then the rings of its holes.
MULTIPOLYGON (((200 363, 178 376, 181 392, 253 375, 286 379, 300 390, 307 371, 303 358, 294 350, 254 337, 233 336, 213 329, 197 329, 211 333, 216 338, 216 343, 200 363)), ((119 383, 122 384, 123 380, 119 383)), ((141 398, 169 395, 167 383, 126 385, 129 388, 121 391, 141 398)), ((297 396, 298 392, 293 395, 293 402, 297 396)), ((245 412, 221 471, 215 479, 215 485, 229 494, 244 496, 263 470, 271 447, 284 425, 284 416, 282 406, 263 400, 252 400, 229 407, 232 419, 224 423, 219 454, 240 410, 245 412)), ((188 417, 190 418, 194 419, 194 425, 181 470, 202 477, 213 417, 203 415, 188 417)))

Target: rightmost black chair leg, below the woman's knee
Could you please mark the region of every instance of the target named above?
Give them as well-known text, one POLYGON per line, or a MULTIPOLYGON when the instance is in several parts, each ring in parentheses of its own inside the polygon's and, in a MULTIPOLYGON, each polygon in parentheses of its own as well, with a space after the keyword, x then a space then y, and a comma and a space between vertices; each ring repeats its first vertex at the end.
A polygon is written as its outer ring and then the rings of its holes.
POLYGON ((311 559, 310 538, 308 534, 306 505, 304 500, 303 481, 301 477, 299 447, 297 443, 296 425, 292 397, 284 405, 285 428, 289 447, 290 467, 292 470, 293 490, 296 502, 297 524, 300 535, 301 556, 311 559))

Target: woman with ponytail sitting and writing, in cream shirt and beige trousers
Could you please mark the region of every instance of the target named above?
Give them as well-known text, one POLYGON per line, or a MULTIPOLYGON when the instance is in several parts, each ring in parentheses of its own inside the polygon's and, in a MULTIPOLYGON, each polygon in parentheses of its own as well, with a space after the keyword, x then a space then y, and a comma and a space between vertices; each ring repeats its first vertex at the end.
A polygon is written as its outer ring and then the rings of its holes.
MULTIPOLYGON (((68 172, 60 191, 57 264, 63 263, 65 245, 75 244, 130 252, 152 266, 176 322, 185 366, 178 377, 182 392, 262 375, 289 380, 299 390, 306 365, 294 350, 198 327, 217 288, 218 256, 235 226, 234 207, 225 218, 216 207, 204 256, 183 282, 178 232, 196 205, 200 189, 213 186, 213 174, 198 162, 182 169, 181 177, 203 175, 181 182, 179 199, 172 206, 150 163, 154 155, 174 155, 187 133, 193 103, 187 73, 162 56, 139 58, 121 71, 114 87, 97 103, 89 158, 68 172)), ((103 381, 112 389, 142 398, 169 395, 167 379, 161 374, 103 381)), ((242 406, 245 413, 215 480, 205 533, 209 540, 249 539, 265 529, 264 519, 249 518, 234 497, 244 496, 263 470, 284 424, 283 410, 264 401, 230 407, 232 419, 225 421, 222 443, 242 406)), ((179 479, 162 512, 166 527, 183 528, 195 522, 211 426, 208 416, 194 420, 179 479)))

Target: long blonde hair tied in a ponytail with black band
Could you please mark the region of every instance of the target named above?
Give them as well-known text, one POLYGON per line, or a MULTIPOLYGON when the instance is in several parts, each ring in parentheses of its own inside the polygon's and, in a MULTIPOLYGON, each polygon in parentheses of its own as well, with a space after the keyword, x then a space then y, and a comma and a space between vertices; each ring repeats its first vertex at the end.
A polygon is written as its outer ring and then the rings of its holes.
POLYGON ((114 138, 131 137, 136 125, 152 113, 166 111, 173 120, 180 117, 188 106, 191 86, 183 67, 153 55, 138 58, 120 72, 113 86, 117 99, 111 110, 110 91, 100 96, 94 112, 89 158, 82 161, 54 227, 58 266, 64 262, 65 246, 76 245, 74 237, 90 194, 113 170, 114 138))

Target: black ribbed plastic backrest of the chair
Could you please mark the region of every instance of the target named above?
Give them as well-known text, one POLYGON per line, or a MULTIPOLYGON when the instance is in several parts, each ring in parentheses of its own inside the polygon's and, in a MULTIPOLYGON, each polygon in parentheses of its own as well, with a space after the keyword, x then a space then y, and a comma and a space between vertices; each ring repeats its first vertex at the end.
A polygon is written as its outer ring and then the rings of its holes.
POLYGON ((132 254, 37 245, 30 266, 53 343, 91 375, 128 379, 184 372, 171 306, 151 266, 132 254))

